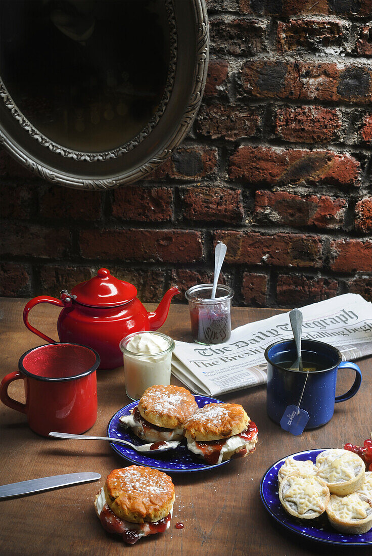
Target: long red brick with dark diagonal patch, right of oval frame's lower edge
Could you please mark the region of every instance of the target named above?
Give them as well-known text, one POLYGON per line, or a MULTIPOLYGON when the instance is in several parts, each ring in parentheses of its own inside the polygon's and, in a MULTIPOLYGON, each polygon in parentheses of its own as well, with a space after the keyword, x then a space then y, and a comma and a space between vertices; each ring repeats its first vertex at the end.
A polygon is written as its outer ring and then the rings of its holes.
POLYGON ((348 153, 238 147, 230 157, 229 176, 253 183, 321 183, 359 185, 359 162, 348 153))

